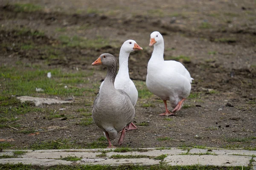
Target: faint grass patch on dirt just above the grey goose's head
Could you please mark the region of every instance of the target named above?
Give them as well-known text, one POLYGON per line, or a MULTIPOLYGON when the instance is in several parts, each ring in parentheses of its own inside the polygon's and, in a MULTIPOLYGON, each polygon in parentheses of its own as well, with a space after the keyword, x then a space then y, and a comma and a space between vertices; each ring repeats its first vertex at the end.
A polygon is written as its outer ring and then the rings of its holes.
POLYGON ((102 48, 106 45, 110 45, 108 39, 102 37, 96 37, 95 39, 86 39, 83 37, 68 37, 66 35, 61 35, 59 40, 64 46, 67 47, 79 47, 79 48, 102 48))

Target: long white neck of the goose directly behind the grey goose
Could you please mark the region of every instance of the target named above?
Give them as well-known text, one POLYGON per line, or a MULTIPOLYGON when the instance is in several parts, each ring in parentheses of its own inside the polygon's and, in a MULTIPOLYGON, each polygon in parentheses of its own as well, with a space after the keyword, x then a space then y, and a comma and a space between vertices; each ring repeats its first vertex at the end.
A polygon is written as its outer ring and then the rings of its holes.
POLYGON ((119 53, 119 70, 117 76, 128 77, 129 78, 129 69, 128 69, 128 58, 129 52, 126 52, 120 49, 119 53))

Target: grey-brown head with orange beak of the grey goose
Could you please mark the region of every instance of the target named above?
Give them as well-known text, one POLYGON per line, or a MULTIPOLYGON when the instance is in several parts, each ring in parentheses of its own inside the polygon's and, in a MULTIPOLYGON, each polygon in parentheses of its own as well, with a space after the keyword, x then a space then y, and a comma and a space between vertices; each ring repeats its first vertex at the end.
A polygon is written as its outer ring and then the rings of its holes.
POLYGON ((116 57, 109 53, 103 53, 92 63, 92 65, 116 65, 116 57))

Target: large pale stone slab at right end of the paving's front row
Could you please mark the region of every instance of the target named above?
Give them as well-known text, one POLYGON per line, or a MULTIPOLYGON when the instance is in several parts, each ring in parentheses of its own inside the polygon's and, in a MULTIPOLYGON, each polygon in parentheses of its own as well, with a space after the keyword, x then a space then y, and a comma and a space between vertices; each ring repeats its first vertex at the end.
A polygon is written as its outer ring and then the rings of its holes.
POLYGON ((167 156, 164 161, 169 165, 248 166, 250 159, 250 156, 236 155, 172 155, 167 156))

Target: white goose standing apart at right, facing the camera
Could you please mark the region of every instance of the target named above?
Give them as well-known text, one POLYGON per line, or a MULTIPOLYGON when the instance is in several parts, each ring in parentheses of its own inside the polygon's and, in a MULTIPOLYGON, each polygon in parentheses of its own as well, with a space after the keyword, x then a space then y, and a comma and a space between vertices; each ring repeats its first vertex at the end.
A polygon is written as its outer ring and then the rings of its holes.
POLYGON ((177 61, 165 61, 163 59, 164 42, 163 36, 154 31, 150 35, 149 46, 154 45, 154 50, 148 62, 146 85, 148 90, 159 96, 166 111, 160 116, 175 115, 179 111, 186 97, 189 96, 193 78, 189 71, 177 61), (167 108, 166 100, 171 102, 172 112, 167 108))

